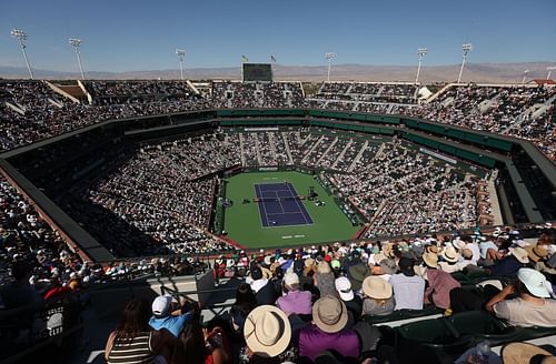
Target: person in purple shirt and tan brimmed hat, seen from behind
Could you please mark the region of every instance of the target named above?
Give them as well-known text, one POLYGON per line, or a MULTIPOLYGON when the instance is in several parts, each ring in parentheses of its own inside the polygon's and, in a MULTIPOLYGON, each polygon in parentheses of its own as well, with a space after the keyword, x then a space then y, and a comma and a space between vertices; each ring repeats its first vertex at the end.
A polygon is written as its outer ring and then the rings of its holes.
POLYGON ((345 357, 357 358, 360 343, 357 333, 346 328, 346 305, 335 296, 324 296, 312 306, 312 324, 299 330, 299 356, 310 361, 325 350, 345 357))

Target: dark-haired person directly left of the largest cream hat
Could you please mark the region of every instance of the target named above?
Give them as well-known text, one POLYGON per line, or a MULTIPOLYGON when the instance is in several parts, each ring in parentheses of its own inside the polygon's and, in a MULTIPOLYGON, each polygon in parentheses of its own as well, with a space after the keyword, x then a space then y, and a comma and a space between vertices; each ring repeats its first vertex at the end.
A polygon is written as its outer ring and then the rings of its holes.
POLYGON ((197 321, 187 324, 173 348, 171 364, 226 364, 228 353, 224 348, 221 331, 212 331, 207 336, 197 321))

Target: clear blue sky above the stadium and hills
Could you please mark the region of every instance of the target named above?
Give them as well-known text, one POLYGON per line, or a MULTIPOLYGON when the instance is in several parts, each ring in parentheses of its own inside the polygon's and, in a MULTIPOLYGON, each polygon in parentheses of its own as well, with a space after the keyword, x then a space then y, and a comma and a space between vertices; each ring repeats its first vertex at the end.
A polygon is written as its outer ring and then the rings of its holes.
POLYGON ((0 0, 0 65, 24 67, 12 28, 29 36, 37 69, 77 71, 68 38, 81 38, 89 71, 177 69, 251 62, 424 64, 556 62, 555 0, 0 0))

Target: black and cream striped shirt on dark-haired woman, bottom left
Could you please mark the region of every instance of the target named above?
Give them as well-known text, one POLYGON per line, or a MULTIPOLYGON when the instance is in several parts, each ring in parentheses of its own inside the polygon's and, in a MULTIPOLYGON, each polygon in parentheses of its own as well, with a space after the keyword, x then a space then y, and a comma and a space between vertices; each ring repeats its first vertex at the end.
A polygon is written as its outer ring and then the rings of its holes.
POLYGON ((151 364, 155 354, 150 340, 150 332, 140 333, 133 338, 116 338, 108 354, 108 364, 151 364))

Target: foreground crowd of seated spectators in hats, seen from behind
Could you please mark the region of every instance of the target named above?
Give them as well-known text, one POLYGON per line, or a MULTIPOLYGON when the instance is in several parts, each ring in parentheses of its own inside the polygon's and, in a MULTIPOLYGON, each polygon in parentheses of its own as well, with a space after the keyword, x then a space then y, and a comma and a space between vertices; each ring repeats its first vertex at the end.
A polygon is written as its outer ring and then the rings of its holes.
POLYGON ((424 318, 476 313, 465 317, 556 328, 554 229, 537 229, 533 239, 506 228, 221 255, 215 275, 231 271, 239 280, 229 311, 202 322, 200 307, 179 296, 161 295, 151 304, 133 300, 110 333, 105 357, 108 363, 368 364, 415 363, 418 355, 427 363, 529 363, 513 356, 528 348, 529 358, 553 358, 546 350, 516 343, 500 355, 481 344, 427 351, 423 342, 400 344, 388 326, 388 317, 404 313, 424 318), (375 325, 377 320, 386 325, 375 325))

